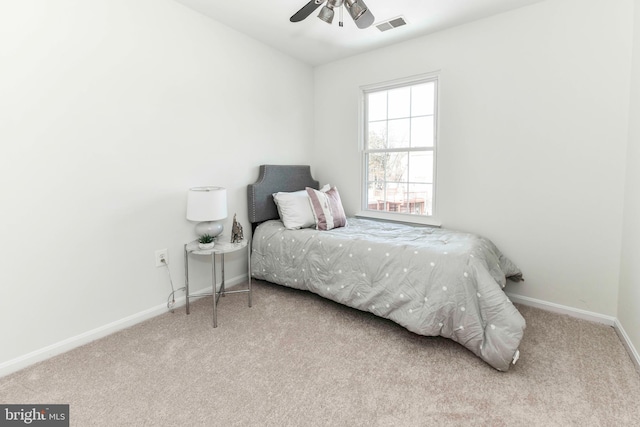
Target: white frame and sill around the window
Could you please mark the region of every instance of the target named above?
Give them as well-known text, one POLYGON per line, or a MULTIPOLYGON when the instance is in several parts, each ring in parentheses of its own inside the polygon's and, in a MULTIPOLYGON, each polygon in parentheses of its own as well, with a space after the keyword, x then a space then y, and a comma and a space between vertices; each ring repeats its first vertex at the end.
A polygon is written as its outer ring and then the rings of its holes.
POLYGON ((365 218, 374 218, 374 219, 382 219, 388 221, 395 222, 406 222, 406 223, 417 223, 417 224, 426 224, 426 225, 435 225, 440 226, 441 222, 437 216, 437 208, 438 208, 438 187, 437 187, 437 176, 438 176, 438 142, 439 142, 439 121, 440 121, 440 93, 441 93, 441 84, 440 84, 440 71, 433 71, 430 73, 419 74, 416 76, 405 77, 401 79, 396 79, 392 81, 376 83, 366 86, 360 87, 360 111, 359 111, 359 151, 360 151, 360 212, 356 214, 357 217, 365 217, 365 218), (368 93, 384 91, 384 90, 392 90, 406 86, 413 86, 420 83, 427 82, 435 82, 435 120, 434 120, 434 141, 433 147, 429 148, 429 151, 433 152, 433 200, 432 200, 432 214, 431 215, 416 215, 416 214, 407 214, 407 213, 398 213, 398 212, 387 212, 387 211, 379 211, 379 210, 371 210, 368 209, 367 206, 367 191, 368 191, 368 183, 367 183, 367 153, 368 150, 365 149, 366 146, 366 138, 368 134, 367 127, 367 102, 366 97, 368 93))

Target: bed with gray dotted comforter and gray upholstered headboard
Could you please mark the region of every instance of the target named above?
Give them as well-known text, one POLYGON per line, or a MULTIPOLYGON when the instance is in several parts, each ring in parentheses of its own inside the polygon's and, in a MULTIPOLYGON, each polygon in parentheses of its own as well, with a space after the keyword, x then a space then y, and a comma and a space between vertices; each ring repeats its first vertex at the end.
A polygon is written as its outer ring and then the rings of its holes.
POLYGON ((490 240, 351 217, 328 230, 285 227, 284 205, 274 195, 318 188, 309 166, 260 166, 247 188, 252 277, 449 338, 499 371, 518 360, 525 320, 503 288, 522 273, 490 240))

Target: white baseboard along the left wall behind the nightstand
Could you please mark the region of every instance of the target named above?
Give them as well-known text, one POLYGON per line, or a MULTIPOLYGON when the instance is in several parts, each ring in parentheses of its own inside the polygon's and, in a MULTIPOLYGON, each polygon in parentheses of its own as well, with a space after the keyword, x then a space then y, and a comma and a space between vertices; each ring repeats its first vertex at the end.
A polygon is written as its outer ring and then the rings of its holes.
MULTIPOLYGON (((227 289, 233 288, 234 286, 245 282, 247 280, 247 277, 248 276, 245 274, 233 279, 227 279, 225 281, 225 287, 227 289)), ((194 290, 193 292, 205 292, 206 290, 207 288, 203 288, 201 290, 194 290)), ((211 286, 209 286, 209 292, 211 292, 211 286)), ((184 296, 176 298, 176 303, 173 306, 173 309, 183 306, 185 303, 186 298, 184 296)), ((49 359, 62 353, 66 353, 69 350, 73 350, 74 348, 88 344, 97 339, 106 337, 107 335, 113 334, 122 329, 126 329, 135 324, 144 322, 145 320, 164 314, 167 311, 169 311, 169 309, 167 308, 167 304, 163 303, 147 310, 143 310, 139 313, 132 314, 131 316, 127 316, 123 319, 116 320, 115 322, 108 323, 74 337, 70 337, 44 348, 32 351, 23 356, 16 357, 15 359, 0 363, 0 378, 17 372, 28 366, 34 365, 38 362, 42 362, 43 360, 49 359)))

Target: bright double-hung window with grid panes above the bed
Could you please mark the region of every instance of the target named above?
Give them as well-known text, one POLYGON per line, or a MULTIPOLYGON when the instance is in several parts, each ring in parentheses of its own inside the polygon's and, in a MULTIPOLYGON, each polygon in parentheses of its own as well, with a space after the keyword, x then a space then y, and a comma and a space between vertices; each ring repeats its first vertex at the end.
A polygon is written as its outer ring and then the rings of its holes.
POLYGON ((363 210, 433 216, 438 78, 363 88, 363 210))

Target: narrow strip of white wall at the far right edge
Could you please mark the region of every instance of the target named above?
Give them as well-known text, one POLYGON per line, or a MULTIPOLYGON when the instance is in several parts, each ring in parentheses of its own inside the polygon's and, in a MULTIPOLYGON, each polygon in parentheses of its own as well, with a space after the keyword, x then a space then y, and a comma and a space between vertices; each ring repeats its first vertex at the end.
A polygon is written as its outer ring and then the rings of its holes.
MULTIPOLYGON (((640 349, 640 0, 635 0, 633 70, 618 320, 640 349)), ((636 353, 636 358, 638 357, 636 353)))

